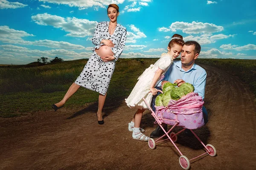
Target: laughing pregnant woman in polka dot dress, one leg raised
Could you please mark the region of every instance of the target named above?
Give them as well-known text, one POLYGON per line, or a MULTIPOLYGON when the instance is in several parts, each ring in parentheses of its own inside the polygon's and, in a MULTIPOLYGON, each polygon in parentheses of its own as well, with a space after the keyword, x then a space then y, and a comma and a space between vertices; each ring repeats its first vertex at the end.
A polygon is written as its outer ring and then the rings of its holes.
POLYGON ((52 105, 57 111, 62 108, 67 99, 70 98, 80 86, 99 93, 99 106, 96 113, 98 123, 104 124, 102 119, 102 108, 105 103, 108 85, 110 83, 116 60, 121 55, 126 41, 126 28, 117 23, 119 7, 110 4, 107 9, 109 22, 100 22, 93 33, 92 42, 96 45, 93 54, 89 58, 83 71, 76 81, 70 86, 64 98, 52 105))

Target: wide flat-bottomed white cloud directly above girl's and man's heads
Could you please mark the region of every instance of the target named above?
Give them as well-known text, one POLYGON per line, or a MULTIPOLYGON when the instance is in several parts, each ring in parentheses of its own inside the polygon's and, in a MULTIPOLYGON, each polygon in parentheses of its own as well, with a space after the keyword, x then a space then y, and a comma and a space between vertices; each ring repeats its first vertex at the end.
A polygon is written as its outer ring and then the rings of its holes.
POLYGON ((215 24, 211 23, 201 23, 201 22, 195 22, 192 23, 184 23, 184 22, 175 22, 172 23, 169 28, 161 27, 158 28, 159 31, 177 31, 182 30, 182 32, 186 34, 211 34, 214 32, 223 31, 222 26, 216 26, 215 24))

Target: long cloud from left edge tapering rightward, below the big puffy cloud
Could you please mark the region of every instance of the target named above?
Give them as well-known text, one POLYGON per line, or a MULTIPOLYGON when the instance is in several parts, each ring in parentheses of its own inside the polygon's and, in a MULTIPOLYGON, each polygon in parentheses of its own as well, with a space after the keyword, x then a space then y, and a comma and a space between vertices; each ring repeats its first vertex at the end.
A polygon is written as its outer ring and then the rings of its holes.
POLYGON ((25 41, 22 37, 31 37, 33 34, 28 34, 25 31, 19 31, 9 28, 9 26, 0 26, 0 41, 9 44, 22 44, 22 45, 38 45, 49 48, 64 48, 64 49, 84 49, 82 45, 75 45, 64 41, 52 40, 38 40, 38 41, 25 41))

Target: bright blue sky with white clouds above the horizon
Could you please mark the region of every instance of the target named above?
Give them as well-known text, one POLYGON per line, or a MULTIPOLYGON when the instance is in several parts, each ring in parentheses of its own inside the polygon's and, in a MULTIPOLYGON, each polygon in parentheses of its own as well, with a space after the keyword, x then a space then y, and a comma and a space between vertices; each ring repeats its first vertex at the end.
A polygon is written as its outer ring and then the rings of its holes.
POLYGON ((254 0, 0 0, 0 64, 89 58, 110 3, 128 31, 121 58, 160 57, 177 33, 200 58, 256 59, 254 0))

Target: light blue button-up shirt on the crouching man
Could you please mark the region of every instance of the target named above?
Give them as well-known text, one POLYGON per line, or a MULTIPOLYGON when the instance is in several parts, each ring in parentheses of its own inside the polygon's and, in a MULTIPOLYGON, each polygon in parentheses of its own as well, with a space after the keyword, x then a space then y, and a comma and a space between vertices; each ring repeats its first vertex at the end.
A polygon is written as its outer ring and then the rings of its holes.
MULTIPOLYGON (((181 67, 181 61, 174 61, 166 71, 164 80, 173 83, 177 79, 183 79, 185 82, 192 84, 195 88, 194 92, 204 99, 206 75, 207 73, 204 68, 201 68, 199 65, 194 64, 188 71, 184 71, 181 67)), ((161 82, 157 86, 161 86, 161 82)))

